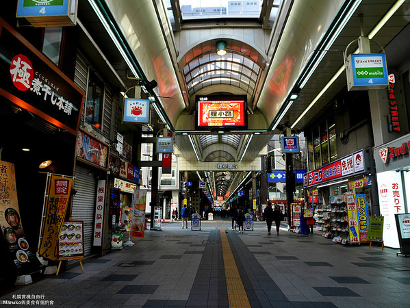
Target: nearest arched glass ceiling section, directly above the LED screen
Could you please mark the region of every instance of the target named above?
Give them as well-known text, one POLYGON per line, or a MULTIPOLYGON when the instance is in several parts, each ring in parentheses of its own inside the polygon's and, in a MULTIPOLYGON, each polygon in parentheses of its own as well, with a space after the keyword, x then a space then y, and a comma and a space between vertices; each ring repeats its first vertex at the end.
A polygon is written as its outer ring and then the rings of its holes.
POLYGON ((227 54, 216 54, 216 40, 198 44, 180 62, 190 96, 214 84, 229 84, 253 94, 266 60, 256 49, 237 40, 225 40, 227 54))

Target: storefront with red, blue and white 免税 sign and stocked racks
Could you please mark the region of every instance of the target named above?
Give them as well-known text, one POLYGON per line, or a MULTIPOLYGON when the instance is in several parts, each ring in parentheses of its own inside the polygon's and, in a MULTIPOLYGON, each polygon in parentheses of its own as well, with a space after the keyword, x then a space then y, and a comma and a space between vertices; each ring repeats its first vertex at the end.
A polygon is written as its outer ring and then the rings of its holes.
POLYGON ((370 159, 369 151, 362 149, 305 175, 317 229, 325 238, 342 244, 367 242, 372 213, 370 159))

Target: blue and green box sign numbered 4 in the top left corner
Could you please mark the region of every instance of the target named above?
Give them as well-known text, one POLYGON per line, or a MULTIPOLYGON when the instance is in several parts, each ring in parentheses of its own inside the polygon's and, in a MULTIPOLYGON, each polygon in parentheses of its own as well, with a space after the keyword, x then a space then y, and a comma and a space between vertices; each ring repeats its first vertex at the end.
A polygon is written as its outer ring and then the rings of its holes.
POLYGON ((77 0, 18 0, 17 17, 33 27, 67 27, 77 23, 77 0))

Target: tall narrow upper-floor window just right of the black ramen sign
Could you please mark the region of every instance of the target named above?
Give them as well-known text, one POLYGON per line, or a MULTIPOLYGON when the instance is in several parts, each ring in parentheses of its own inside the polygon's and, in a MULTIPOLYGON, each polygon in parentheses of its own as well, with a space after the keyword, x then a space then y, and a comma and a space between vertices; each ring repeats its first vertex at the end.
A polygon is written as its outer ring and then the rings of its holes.
POLYGON ((101 79, 90 70, 87 88, 86 122, 98 129, 101 129, 103 120, 103 89, 104 84, 101 79))

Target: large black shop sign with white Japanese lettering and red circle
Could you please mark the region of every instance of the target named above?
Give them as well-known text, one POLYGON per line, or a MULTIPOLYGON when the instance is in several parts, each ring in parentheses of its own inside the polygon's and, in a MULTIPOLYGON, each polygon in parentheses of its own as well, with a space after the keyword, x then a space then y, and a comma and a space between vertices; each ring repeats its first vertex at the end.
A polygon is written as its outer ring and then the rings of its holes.
POLYGON ((0 95, 77 135, 84 92, 0 18, 0 95))

